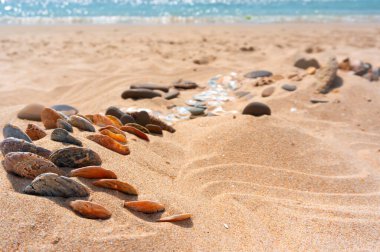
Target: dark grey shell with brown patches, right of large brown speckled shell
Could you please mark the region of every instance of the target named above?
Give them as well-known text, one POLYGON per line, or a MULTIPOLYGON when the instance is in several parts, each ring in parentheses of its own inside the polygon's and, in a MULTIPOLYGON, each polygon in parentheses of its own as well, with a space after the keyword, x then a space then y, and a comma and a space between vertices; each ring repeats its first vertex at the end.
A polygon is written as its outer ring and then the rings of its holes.
POLYGON ((53 152, 49 159, 58 167, 79 168, 102 164, 99 155, 93 150, 74 146, 53 152))

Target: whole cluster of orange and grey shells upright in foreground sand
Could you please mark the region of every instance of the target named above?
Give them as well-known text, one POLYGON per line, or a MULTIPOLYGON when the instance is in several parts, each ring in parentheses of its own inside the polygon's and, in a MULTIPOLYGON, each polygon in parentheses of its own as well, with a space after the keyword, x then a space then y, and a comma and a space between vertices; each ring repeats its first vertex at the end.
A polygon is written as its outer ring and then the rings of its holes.
MULTIPOLYGON (((87 139, 97 144, 127 155, 130 153, 126 134, 131 133, 149 141, 147 134, 162 134, 162 130, 174 132, 174 128, 165 124, 147 112, 127 114, 110 107, 107 115, 95 114, 82 116, 78 110, 68 105, 58 105, 45 108, 32 104, 22 109, 18 117, 21 119, 42 121, 46 130, 52 129, 51 140, 73 146, 60 148, 54 152, 39 147, 33 141, 44 138, 48 133, 35 124, 29 124, 24 131, 11 124, 3 128, 4 140, 0 142, 0 151, 4 156, 2 166, 8 173, 32 179, 23 192, 30 195, 48 197, 80 197, 86 198, 90 190, 72 177, 95 179, 92 182, 97 187, 117 190, 129 195, 138 195, 137 190, 130 184, 120 181, 117 175, 101 167, 101 157, 89 148, 82 147, 83 143, 72 134, 73 127, 82 131, 96 132, 87 139), (122 123, 120 118, 129 117, 130 121, 122 123), (68 169, 70 169, 69 172, 68 169)), ((112 213, 104 206, 84 200, 69 202, 69 206, 79 215, 90 219, 108 219, 112 213)), ((133 211, 156 213, 165 207, 154 201, 128 201, 124 206, 133 211)), ((190 214, 179 214, 160 218, 159 222, 174 222, 186 220, 190 214)))

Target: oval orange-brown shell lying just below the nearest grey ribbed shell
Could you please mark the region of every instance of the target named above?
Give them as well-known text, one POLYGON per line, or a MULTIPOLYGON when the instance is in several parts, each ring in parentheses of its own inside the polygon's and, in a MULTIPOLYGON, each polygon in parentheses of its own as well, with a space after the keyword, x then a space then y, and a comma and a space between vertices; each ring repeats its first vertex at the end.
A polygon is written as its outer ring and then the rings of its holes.
POLYGON ((112 215, 112 213, 108 211, 105 207, 86 200, 71 201, 70 207, 78 214, 89 219, 105 220, 110 218, 112 215))

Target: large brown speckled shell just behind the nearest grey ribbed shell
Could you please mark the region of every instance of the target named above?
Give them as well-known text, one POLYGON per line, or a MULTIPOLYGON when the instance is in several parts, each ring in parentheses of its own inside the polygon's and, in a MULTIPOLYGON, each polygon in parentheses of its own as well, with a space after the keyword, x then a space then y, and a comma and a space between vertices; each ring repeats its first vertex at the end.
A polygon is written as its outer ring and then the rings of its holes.
POLYGON ((49 160, 30 152, 10 152, 2 161, 7 172, 21 177, 34 179, 46 172, 62 174, 61 170, 49 160))

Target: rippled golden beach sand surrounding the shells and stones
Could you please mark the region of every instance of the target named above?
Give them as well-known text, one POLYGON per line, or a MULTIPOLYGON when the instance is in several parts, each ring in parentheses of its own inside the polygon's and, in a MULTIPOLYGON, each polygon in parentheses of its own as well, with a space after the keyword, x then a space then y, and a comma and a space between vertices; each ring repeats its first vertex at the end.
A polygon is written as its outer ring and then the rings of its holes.
MULTIPOLYGON (((184 78, 206 87, 217 74, 269 70, 287 76, 305 54, 321 64, 329 55, 380 66, 376 24, 247 26, 23 26, 0 28, 0 127, 30 123, 17 112, 30 103, 70 104, 81 114, 109 106, 163 113, 179 98, 123 100, 131 84, 171 84, 184 78), (253 51, 242 51, 242 47, 253 51), (194 64, 206 57, 208 64, 194 64)), ((201 117, 174 124, 174 134, 145 142, 128 135, 121 156, 74 135, 103 159, 103 167, 134 185, 139 199, 166 206, 162 216, 191 213, 191 221, 156 223, 123 207, 136 197, 91 185, 90 199, 112 212, 89 220, 68 207, 71 199, 30 196, 28 179, 0 169, 1 250, 257 251, 377 250, 380 247, 380 82, 339 71, 343 85, 316 93, 314 76, 270 97, 246 83, 225 110, 236 116, 201 117), (311 98, 328 103, 312 104, 311 98), (261 101, 271 116, 242 115, 261 101), (135 139, 135 140, 133 140, 135 139)), ((42 126, 42 123, 37 123, 42 126)), ((47 131, 50 135, 51 130, 47 131)), ((50 150, 50 136, 36 141, 50 150)), ((3 158, 3 157, 2 157, 3 158)))

